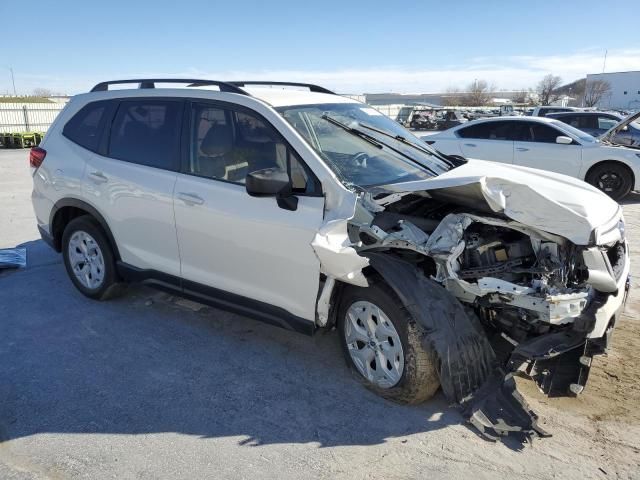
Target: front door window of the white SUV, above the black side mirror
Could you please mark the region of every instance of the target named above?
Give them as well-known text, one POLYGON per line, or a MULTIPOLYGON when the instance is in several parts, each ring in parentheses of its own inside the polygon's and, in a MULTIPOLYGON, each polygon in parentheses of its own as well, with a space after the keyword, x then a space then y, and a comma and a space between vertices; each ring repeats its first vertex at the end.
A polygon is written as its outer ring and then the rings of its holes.
POLYGON ((248 173, 278 168, 289 173, 293 190, 310 192, 310 175, 284 139, 262 119, 212 105, 194 105, 188 173, 244 184, 248 173))

